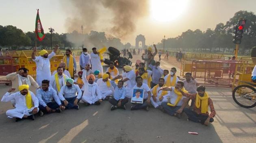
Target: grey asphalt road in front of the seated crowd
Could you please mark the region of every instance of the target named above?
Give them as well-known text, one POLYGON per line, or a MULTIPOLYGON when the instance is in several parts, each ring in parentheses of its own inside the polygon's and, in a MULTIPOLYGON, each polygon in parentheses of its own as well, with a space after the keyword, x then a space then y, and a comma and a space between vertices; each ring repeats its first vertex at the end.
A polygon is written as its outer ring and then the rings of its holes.
MULTIPOLYGON (((139 58, 139 57, 138 57, 139 58)), ((136 61, 135 58, 133 60, 136 61)), ((167 62, 161 66, 170 68, 167 62)), ((106 69, 106 66, 104 66, 106 69)), ((120 71, 120 70, 119 70, 120 71)), ((10 88, 0 85, 0 97, 10 88)), ((110 111, 111 104, 104 101, 99 106, 62 113, 36 116, 35 121, 15 122, 5 115, 11 103, 1 103, 0 142, 28 143, 252 143, 256 141, 256 108, 245 109, 234 103, 230 88, 208 87, 217 115, 213 124, 203 126, 168 116, 158 109, 110 111), (190 135, 188 132, 198 132, 190 135)))

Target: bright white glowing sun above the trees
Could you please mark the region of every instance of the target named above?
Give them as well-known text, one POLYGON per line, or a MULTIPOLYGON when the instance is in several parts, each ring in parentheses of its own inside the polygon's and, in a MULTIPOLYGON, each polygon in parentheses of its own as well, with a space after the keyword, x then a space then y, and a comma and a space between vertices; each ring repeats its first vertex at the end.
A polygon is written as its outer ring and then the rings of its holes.
POLYGON ((150 15, 160 22, 176 19, 187 7, 188 0, 151 0, 150 15))

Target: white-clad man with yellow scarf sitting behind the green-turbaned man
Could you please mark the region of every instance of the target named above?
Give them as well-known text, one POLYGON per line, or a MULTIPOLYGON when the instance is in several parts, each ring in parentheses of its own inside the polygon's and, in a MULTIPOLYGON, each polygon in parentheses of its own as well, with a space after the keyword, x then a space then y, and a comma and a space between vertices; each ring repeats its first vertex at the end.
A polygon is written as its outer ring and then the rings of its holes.
POLYGON ((50 80, 50 87, 55 89, 57 91, 57 94, 59 94, 61 87, 66 85, 66 78, 69 78, 67 75, 63 74, 63 68, 58 67, 57 68, 57 73, 52 75, 51 80, 50 80), (56 78, 58 81, 56 81, 56 78), (58 85, 57 85, 58 84, 58 85))

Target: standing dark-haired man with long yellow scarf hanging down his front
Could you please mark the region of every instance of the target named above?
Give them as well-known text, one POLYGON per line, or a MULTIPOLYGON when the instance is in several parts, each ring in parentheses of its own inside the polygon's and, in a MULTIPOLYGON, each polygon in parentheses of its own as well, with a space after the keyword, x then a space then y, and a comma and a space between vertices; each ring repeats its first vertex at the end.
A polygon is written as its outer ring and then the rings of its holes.
POLYGON ((63 58, 64 63, 66 64, 66 70, 69 71, 71 78, 74 78, 76 74, 76 59, 71 55, 71 50, 66 50, 66 55, 63 58))

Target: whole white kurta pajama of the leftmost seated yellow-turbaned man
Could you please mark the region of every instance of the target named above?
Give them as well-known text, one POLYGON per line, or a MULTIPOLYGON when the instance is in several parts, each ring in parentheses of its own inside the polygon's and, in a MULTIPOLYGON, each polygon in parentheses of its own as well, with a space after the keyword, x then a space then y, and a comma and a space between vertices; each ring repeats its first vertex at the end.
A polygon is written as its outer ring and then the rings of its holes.
POLYGON ((28 107, 26 106, 26 95, 22 95, 20 93, 20 91, 16 92, 16 93, 6 93, 3 97, 2 97, 2 102, 9 102, 11 100, 15 100, 15 109, 10 109, 6 111, 6 115, 8 118, 23 118, 24 115, 26 116, 30 116, 32 114, 29 114, 30 111, 32 111, 34 108, 37 108, 37 112, 39 111, 38 105, 39 105, 39 101, 37 99, 37 97, 34 95, 34 93, 32 93, 31 91, 30 95, 32 97, 33 103, 34 103, 34 107, 31 107, 30 109, 28 109, 28 107))

